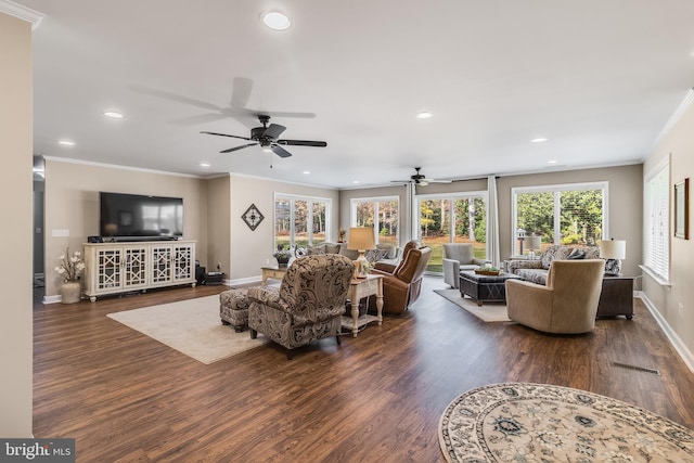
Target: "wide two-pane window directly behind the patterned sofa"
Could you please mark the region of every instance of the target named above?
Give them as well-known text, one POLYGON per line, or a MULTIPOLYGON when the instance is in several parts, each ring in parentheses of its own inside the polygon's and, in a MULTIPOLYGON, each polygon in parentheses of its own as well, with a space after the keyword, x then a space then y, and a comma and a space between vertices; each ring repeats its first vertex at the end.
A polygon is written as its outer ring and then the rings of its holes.
POLYGON ((607 236, 607 182, 514 188, 512 249, 526 254, 525 236, 552 244, 596 246, 607 236))

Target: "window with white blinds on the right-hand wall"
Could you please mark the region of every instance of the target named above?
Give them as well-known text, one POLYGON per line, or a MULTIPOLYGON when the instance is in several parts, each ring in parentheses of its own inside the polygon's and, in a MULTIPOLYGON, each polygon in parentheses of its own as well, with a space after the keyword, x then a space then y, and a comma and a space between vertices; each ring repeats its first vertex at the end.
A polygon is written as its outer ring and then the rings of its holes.
POLYGON ((663 163, 646 176, 644 187, 644 266, 668 281, 670 268, 670 165, 663 163))

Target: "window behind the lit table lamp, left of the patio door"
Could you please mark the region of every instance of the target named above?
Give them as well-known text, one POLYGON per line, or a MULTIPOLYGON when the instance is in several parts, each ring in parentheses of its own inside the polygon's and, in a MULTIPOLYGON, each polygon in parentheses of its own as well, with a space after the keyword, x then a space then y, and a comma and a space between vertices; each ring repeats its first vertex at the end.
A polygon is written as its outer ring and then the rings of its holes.
POLYGON ((373 227, 376 243, 398 246, 398 198, 370 197, 351 200, 352 227, 373 227))

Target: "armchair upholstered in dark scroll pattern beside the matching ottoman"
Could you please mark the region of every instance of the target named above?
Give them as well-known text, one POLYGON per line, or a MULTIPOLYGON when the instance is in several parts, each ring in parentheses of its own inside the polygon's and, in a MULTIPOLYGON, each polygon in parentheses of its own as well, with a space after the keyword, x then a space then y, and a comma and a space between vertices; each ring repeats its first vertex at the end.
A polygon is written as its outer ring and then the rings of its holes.
POLYGON ((264 334, 287 349, 324 337, 339 344, 340 317, 349 292, 352 261, 339 254, 299 257, 286 271, 280 287, 248 288, 250 337, 264 334))

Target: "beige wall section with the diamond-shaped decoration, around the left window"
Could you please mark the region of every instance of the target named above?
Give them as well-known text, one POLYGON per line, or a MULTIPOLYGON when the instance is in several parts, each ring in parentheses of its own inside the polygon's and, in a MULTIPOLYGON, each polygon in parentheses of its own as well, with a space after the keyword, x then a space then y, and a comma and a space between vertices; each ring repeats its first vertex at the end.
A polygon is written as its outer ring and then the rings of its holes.
POLYGON ((223 269, 232 282, 255 280, 260 267, 272 258, 274 243, 274 193, 314 196, 332 200, 331 235, 337 240, 338 192, 295 183, 283 183, 255 177, 231 176, 231 268, 223 269), (252 231, 241 216, 255 204, 265 217, 252 231))

